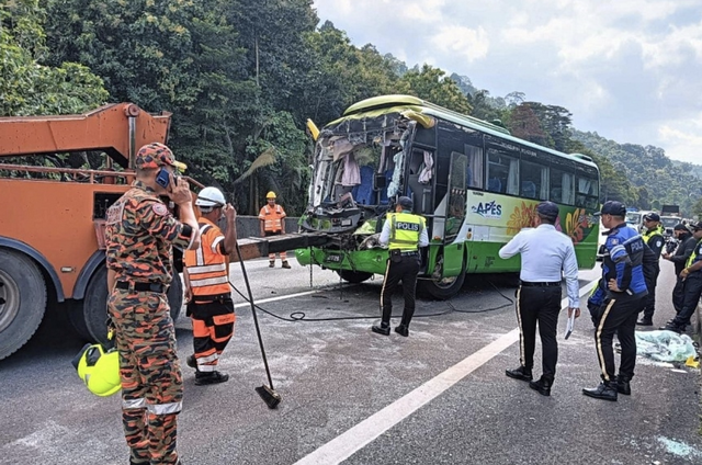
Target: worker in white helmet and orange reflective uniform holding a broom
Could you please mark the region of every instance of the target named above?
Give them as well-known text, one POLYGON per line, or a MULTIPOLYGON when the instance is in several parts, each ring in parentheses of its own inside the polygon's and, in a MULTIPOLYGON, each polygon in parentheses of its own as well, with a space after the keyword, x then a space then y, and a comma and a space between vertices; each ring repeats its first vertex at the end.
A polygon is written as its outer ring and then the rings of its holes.
POLYGON ((195 205, 202 213, 199 218, 202 241, 196 250, 185 251, 183 276, 195 351, 186 363, 196 370, 195 384, 202 386, 229 379, 229 375, 215 368, 234 334, 236 320, 229 288, 228 257, 236 248, 237 212, 217 188, 203 189, 195 205), (217 227, 223 215, 227 222, 225 234, 217 227))

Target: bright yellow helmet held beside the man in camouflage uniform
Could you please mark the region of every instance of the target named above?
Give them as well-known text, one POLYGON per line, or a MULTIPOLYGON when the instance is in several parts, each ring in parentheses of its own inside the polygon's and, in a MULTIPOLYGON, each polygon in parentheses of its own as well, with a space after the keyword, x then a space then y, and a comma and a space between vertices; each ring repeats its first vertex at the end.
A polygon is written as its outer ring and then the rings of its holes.
POLYGON ((120 353, 116 350, 105 351, 101 344, 86 344, 71 363, 95 396, 112 396, 122 388, 120 353))

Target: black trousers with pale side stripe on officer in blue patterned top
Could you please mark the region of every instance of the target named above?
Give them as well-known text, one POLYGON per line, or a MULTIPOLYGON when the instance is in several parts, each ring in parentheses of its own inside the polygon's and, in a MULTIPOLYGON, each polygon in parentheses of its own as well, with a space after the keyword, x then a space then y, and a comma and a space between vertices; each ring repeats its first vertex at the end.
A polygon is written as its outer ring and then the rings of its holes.
POLYGON ((598 322, 595 328, 595 348, 602 371, 602 381, 613 382, 616 378, 614 370, 614 349, 612 339, 614 333, 622 347, 622 361, 619 367, 619 376, 630 381, 634 377, 636 365, 636 318, 641 310, 642 298, 622 296, 605 298, 599 308, 598 322))

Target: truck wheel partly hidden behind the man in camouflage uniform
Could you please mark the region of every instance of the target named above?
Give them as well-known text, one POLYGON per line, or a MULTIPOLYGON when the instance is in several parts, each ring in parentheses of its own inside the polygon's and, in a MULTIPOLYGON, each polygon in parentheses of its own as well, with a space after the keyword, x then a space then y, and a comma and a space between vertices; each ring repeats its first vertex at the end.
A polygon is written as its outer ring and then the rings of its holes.
MULTIPOLYGON (((180 315, 183 305, 183 283, 178 275, 173 276, 168 290, 168 304, 171 308, 173 321, 180 315)), ((83 318, 90 338, 94 341, 107 342, 107 268, 100 266, 88 282, 86 299, 83 300, 83 318)))

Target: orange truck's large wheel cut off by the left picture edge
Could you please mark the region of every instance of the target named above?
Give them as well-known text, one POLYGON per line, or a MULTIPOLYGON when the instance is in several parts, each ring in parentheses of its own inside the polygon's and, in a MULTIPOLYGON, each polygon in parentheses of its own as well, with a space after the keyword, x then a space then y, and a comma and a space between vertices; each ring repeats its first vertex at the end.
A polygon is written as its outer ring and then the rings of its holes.
POLYGON ((0 250, 0 360, 20 349, 36 331, 46 309, 46 284, 34 262, 0 250))

